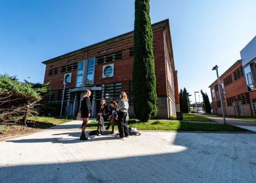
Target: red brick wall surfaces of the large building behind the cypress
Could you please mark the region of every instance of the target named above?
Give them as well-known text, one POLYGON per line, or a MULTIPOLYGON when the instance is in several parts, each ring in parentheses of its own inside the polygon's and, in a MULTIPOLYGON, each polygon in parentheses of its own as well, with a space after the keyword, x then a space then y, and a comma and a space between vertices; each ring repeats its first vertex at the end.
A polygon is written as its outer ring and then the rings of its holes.
MULTIPOLYGON (((168 36, 168 35, 166 35, 168 36)), ((154 61, 155 61, 155 74, 157 78, 157 95, 158 96, 166 96, 166 70, 165 70, 165 54, 164 54, 164 34, 163 29, 157 30, 153 32, 154 37, 154 61)), ((128 40, 118 42, 115 44, 111 44, 108 46, 104 46, 98 49, 93 49, 88 51, 87 53, 82 53, 79 55, 72 56, 70 58, 65 58, 60 61, 56 61, 51 64, 47 64, 46 72, 44 76, 44 83, 51 81, 50 87, 51 90, 60 90, 63 88, 63 79, 64 74, 61 73, 61 66, 69 65, 72 63, 76 63, 78 61, 84 60, 85 58, 93 58, 95 56, 105 55, 106 53, 97 54, 98 51, 104 50, 107 48, 113 48, 114 50, 111 52, 117 52, 119 50, 123 50, 123 59, 119 61, 108 62, 105 64, 99 64, 95 67, 94 73, 94 84, 103 84, 103 83, 111 83, 111 82, 120 82, 120 81, 128 81, 132 79, 132 70, 133 70, 133 57, 129 58, 129 48, 133 46, 133 38, 128 40), (122 46, 120 46, 122 44, 122 46), (122 48, 120 48, 122 47, 122 48), (117 49, 116 49, 117 48, 117 49), (97 54, 97 55, 96 55, 97 54), (78 58, 79 57, 79 58, 78 58), (78 59, 76 59, 78 58, 78 59), (126 59, 125 59, 126 58, 126 59), (70 61, 72 59, 76 59, 74 61, 70 61), (70 62, 67 62, 70 61, 70 62), (102 66, 107 64, 114 64, 114 76, 110 78, 102 78, 102 66), (54 65, 54 67, 49 67, 54 65), (53 69, 58 67, 58 74, 47 76, 49 69, 53 69)), ((111 53, 108 52, 108 53, 111 53)), ((67 84, 66 88, 74 88, 76 87, 76 74, 77 70, 69 71, 66 73, 72 73, 72 82, 71 84, 67 84)), ((170 81, 170 83, 172 80, 170 81)))

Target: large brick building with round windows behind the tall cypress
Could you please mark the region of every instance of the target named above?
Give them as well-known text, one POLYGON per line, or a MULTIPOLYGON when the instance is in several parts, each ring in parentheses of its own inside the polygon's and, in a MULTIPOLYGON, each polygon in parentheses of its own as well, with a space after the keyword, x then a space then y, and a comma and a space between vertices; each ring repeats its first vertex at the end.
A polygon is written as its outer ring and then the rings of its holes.
MULTIPOLYGON (((157 78, 157 118, 168 119, 179 111, 177 71, 175 71, 169 20, 151 25, 153 31, 155 74, 157 78), (176 100, 175 100, 176 98, 176 100)), ((48 102, 61 102, 64 111, 75 116, 84 91, 92 91, 92 116, 101 99, 119 100, 125 91, 129 99, 129 115, 133 112, 133 35, 128 32, 42 62, 46 64, 44 83, 51 81, 53 92, 48 102), (120 69, 122 68, 122 69, 120 69)))

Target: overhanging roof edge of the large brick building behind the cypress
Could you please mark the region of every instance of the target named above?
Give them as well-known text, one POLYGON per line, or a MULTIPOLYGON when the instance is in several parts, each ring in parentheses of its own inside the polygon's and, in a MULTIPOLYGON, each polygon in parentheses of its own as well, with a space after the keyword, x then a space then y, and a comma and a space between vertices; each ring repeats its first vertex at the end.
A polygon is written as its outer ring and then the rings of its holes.
MULTIPOLYGON (((152 28, 152 31, 154 30, 157 30, 157 29, 160 29, 160 28, 164 28, 166 26, 166 24, 169 24, 169 19, 166 19, 166 20, 162 20, 160 22, 157 22, 157 23, 153 23, 151 24, 151 28, 152 28)), ((99 48, 99 47, 102 47, 102 46, 106 46, 108 44, 113 44, 115 42, 118 42, 118 41, 122 41, 122 40, 125 40, 125 39, 128 39, 128 38, 131 38, 133 37, 133 32, 134 31, 130 31, 130 32, 126 32, 122 35, 118 35, 118 36, 115 36, 113 38, 110 38, 110 39, 107 39, 105 41, 101 41, 99 43, 96 43, 96 44, 92 44, 90 46, 86 46, 86 47, 83 47, 81 49, 77 49, 75 51, 72 51, 72 52, 69 52, 69 53, 66 53, 64 55, 60 55, 60 56, 57 56, 55 58, 51 58, 49 60, 46 60, 46 61, 43 61, 42 63, 43 64, 50 64, 50 63, 53 63, 55 61, 59 61, 59 60, 62 60, 64 58, 69 58, 71 56, 74 56, 74 55, 78 55, 78 54, 81 54, 81 53, 84 53, 84 52, 87 52, 91 49, 96 49, 96 48, 99 48)))

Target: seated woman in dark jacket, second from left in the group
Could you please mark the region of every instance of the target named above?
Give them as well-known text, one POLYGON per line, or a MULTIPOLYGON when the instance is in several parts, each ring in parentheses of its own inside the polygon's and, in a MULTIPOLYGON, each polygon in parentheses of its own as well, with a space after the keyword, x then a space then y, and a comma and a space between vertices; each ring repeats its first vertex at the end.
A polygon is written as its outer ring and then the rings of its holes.
POLYGON ((108 107, 106 106, 106 101, 102 99, 101 105, 98 107, 98 110, 97 110, 97 121, 98 121, 97 136, 101 135, 101 131, 104 126, 104 119, 106 119, 107 113, 108 113, 108 107))

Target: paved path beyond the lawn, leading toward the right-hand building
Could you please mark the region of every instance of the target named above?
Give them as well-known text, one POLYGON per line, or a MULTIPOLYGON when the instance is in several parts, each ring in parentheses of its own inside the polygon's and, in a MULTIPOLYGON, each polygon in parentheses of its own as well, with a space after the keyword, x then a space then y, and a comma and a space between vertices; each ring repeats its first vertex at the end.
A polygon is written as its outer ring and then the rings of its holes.
MULTIPOLYGON (((198 114, 198 116, 207 117, 209 119, 212 119, 216 122, 224 123, 223 117, 220 116, 210 116, 205 114, 198 114)), ((250 131, 256 131, 256 121, 250 121, 250 120, 244 120, 244 119, 236 119, 236 118, 230 118, 226 117, 226 123, 230 125, 235 125, 241 128, 245 128, 250 131)))

